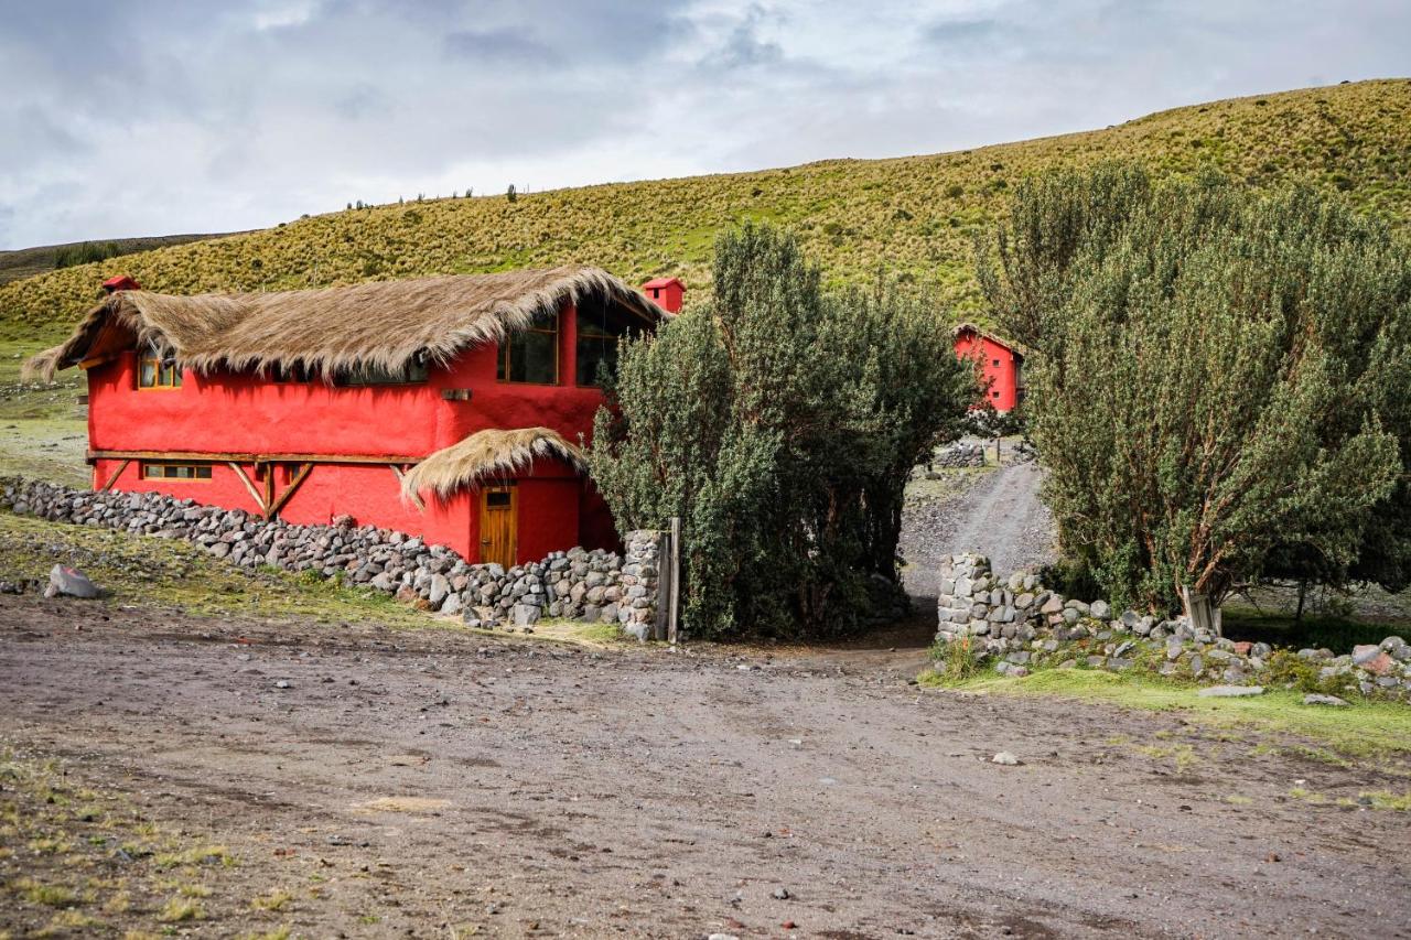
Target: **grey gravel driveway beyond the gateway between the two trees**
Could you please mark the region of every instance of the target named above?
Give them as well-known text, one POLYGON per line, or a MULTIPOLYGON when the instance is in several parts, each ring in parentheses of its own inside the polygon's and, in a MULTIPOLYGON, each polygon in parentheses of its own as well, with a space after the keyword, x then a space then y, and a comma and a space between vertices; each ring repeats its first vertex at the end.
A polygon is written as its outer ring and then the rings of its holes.
MULTIPOLYGON (((964 473, 964 471, 951 471, 964 473)), ((935 569, 943 555, 979 552, 996 574, 1055 560, 1054 522, 1038 498, 1043 469, 1034 462, 1005 464, 971 474, 950 500, 920 500, 902 519, 902 552, 913 596, 935 594, 935 569)))

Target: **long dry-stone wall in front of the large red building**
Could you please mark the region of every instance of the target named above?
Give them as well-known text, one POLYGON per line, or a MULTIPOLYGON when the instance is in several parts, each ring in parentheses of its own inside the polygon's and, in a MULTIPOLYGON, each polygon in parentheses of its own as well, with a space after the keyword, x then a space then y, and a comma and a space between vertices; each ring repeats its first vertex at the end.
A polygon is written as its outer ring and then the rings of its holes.
POLYGON ((11 477, 0 508, 54 522, 99 525, 200 545, 240 567, 313 572, 368 587, 470 627, 532 629, 540 617, 621 624, 639 638, 656 621, 658 534, 629 532, 626 558, 581 548, 505 570, 470 565, 442 545, 391 529, 267 522, 241 510, 157 493, 93 493, 11 477))

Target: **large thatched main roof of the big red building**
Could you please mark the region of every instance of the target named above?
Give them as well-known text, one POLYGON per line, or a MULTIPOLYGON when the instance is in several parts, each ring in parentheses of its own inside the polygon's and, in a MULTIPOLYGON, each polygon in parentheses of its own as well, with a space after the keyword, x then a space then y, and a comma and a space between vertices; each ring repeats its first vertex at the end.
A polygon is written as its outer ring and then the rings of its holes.
POLYGON ((56 368, 107 350, 117 342, 114 330, 124 343, 151 343, 199 371, 275 364, 323 375, 357 366, 398 371, 418 356, 446 363, 584 296, 601 296, 649 323, 666 316, 621 279, 577 265, 277 294, 119 291, 89 311, 65 343, 25 363, 25 371, 49 380, 56 368))

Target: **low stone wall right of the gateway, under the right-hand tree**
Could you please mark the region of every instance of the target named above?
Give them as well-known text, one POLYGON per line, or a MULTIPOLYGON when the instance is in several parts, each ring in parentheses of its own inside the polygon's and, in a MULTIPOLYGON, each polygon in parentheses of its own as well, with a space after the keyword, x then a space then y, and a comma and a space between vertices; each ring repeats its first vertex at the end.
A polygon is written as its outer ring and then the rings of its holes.
POLYGON ((1163 620, 1132 610, 1113 617, 1106 601, 1065 598, 1044 587, 1037 573, 996 577, 982 555, 944 558, 938 591, 937 642, 964 641, 1007 675, 1027 675, 1040 663, 1116 672, 1140 666, 1205 685, 1253 686, 1287 685, 1297 673, 1309 692, 1411 700, 1411 645, 1400 637, 1343 655, 1274 651, 1194 629, 1185 617, 1163 620), (1280 655, 1297 662, 1276 662, 1280 655))

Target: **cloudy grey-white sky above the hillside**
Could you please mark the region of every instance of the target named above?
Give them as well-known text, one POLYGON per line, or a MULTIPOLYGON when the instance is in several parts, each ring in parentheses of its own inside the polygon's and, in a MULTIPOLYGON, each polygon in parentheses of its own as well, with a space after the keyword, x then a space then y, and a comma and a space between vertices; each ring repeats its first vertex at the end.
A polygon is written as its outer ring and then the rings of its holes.
POLYGON ((1411 73, 1405 0, 0 0, 0 248, 1411 73))

